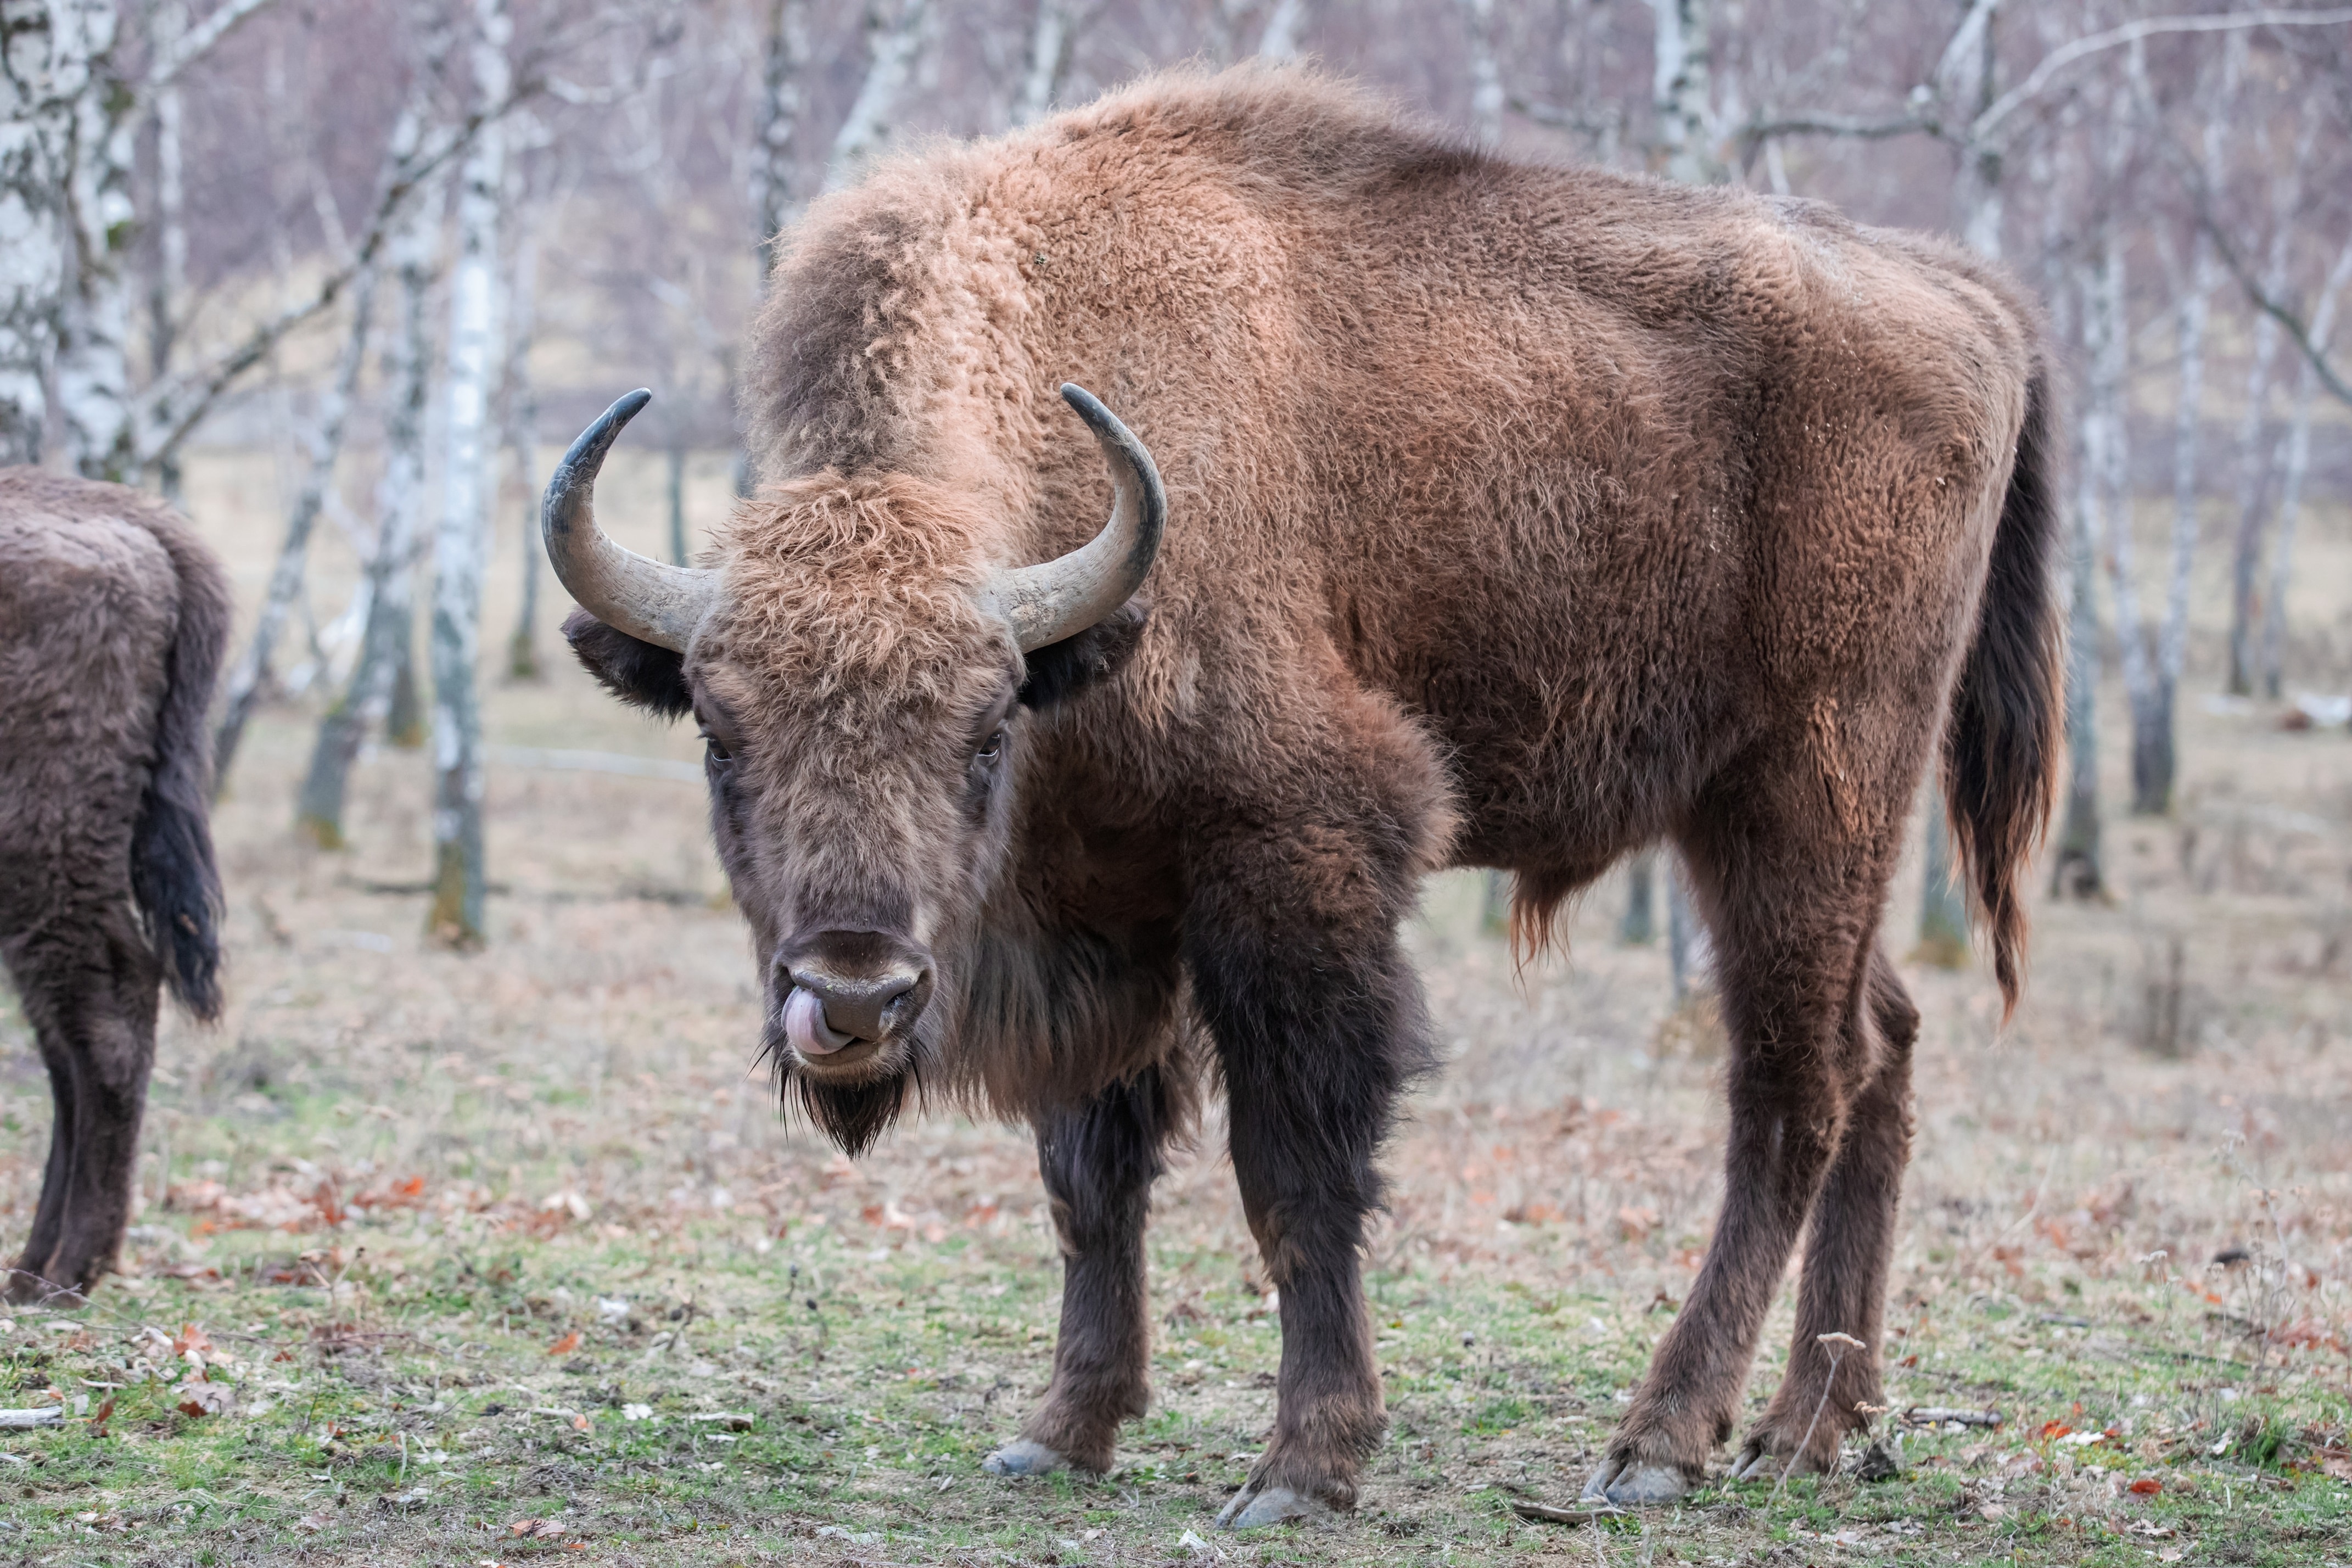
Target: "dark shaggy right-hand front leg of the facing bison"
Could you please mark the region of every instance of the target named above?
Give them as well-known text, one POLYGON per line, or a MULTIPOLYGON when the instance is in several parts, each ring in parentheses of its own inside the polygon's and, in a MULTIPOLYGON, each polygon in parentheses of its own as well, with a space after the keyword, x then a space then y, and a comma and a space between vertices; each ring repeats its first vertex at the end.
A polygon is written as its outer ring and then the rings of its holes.
POLYGON ((1275 1432, 1218 1514, 1232 1528, 1355 1507, 1388 1418, 1364 1314, 1364 1218, 1397 1093, 1428 1060, 1418 987, 1388 929, 1348 954, 1329 924, 1197 952, 1242 1208, 1279 1293, 1275 1432))

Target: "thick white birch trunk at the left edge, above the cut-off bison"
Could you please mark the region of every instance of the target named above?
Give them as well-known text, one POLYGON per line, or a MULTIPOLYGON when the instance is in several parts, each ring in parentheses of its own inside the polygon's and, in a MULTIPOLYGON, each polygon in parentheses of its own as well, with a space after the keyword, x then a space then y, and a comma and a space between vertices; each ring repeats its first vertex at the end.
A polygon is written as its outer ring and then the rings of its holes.
POLYGON ((38 463, 66 289, 71 40, 47 0, 0 0, 0 463, 38 463))

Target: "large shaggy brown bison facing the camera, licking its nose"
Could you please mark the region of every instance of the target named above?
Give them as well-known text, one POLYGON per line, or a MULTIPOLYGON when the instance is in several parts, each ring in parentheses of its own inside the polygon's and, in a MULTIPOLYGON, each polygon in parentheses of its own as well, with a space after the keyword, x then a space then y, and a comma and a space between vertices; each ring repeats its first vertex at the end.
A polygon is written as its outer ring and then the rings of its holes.
POLYGON ((1736 1462, 1835 1460, 1877 1356, 1811 1427, 1816 1335, 1877 1349, 1910 1138, 1877 929, 1912 790, 1940 743, 2013 992, 2058 750, 2046 374, 2004 275, 1251 68, 818 202, 750 343, 764 482, 703 569, 590 517, 642 397, 574 447, 548 550, 588 668, 708 738, 786 1093, 851 1152, 927 1098, 1037 1131, 1061 1340, 990 1469, 1101 1469, 1145 1408, 1148 1192, 1214 1084, 1282 1300, 1223 1519, 1352 1502, 1359 1246, 1430 1067, 1397 922, 1425 872, 1503 867, 1541 945, 1661 837, 1719 954, 1729 1194, 1590 1490, 1703 1474, 1806 1222, 1736 1462))

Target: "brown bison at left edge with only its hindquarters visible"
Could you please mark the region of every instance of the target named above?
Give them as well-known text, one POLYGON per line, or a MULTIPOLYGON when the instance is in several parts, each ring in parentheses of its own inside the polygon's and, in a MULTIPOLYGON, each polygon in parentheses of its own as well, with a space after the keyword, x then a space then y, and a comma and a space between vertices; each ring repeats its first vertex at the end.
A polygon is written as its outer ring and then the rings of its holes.
POLYGON ((205 708, 226 637, 228 581, 169 508, 0 468, 0 964, 56 1100, 9 1300, 113 1265, 158 992, 221 1009, 205 708))

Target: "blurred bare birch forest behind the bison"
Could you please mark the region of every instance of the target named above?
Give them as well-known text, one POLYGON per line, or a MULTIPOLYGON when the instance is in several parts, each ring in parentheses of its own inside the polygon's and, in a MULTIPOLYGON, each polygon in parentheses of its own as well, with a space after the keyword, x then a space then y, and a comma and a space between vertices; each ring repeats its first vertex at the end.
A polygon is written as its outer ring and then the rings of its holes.
MULTIPOLYGON (((736 348, 795 214, 889 148, 1164 66, 1317 59, 1508 155, 1818 197, 2016 268, 2070 364, 2056 891, 2103 889, 2103 804, 2173 806, 2185 703, 2352 717, 2333 696, 2352 618, 2296 564, 2298 531, 2352 496, 2352 7, 5 0, 0 19, 0 461, 179 498, 195 447, 268 454, 282 548, 240 628, 223 780, 259 703, 308 703, 299 827, 336 846, 369 736, 440 731, 430 926, 454 945, 485 931, 480 682, 555 654, 548 447, 652 386, 640 437, 684 557, 713 520, 689 473, 748 482, 736 348), (320 555, 350 569, 325 585, 320 555), (2110 802, 2103 677, 2129 708, 2110 802)), ((1931 818, 1924 933, 1959 952, 1940 849, 1931 818)))

